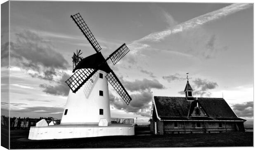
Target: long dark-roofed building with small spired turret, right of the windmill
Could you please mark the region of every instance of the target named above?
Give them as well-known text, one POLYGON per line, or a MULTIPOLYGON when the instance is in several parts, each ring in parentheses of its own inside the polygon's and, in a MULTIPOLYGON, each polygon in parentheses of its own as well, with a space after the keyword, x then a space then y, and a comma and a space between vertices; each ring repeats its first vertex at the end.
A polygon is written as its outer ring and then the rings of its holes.
POLYGON ((223 98, 193 97, 187 80, 185 97, 154 96, 150 130, 154 134, 244 131, 246 120, 238 118, 223 98))

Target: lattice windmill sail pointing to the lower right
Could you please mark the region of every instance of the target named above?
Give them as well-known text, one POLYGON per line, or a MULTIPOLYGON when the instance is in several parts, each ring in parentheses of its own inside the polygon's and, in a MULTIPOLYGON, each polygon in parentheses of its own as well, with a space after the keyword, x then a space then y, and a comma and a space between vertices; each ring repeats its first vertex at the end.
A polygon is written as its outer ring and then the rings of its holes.
POLYGON ((111 72, 109 72, 109 74, 107 74, 106 78, 109 81, 109 83, 113 86, 113 88, 116 90, 116 92, 118 92, 118 94, 122 97, 124 102, 126 102, 126 104, 129 105, 132 98, 130 97, 130 95, 128 94, 128 92, 123 87, 123 85, 121 84, 121 82, 112 70, 111 72))

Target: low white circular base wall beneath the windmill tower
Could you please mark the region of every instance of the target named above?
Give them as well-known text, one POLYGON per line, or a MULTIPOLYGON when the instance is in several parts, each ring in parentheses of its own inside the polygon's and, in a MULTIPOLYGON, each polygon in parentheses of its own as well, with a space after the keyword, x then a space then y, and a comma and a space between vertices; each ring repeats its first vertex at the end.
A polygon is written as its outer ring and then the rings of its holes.
POLYGON ((134 124, 98 125, 52 125, 30 127, 28 139, 49 140, 64 138, 87 138, 97 136, 132 136, 134 124))

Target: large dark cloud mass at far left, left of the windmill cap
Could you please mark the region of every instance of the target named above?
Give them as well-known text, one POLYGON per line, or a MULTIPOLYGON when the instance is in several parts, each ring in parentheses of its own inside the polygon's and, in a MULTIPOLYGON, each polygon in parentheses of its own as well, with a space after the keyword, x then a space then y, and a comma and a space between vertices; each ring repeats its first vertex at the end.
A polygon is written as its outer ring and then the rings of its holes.
POLYGON ((69 63, 51 44, 35 32, 23 30, 11 42, 11 65, 21 67, 32 77, 52 81, 56 69, 67 69, 69 63))

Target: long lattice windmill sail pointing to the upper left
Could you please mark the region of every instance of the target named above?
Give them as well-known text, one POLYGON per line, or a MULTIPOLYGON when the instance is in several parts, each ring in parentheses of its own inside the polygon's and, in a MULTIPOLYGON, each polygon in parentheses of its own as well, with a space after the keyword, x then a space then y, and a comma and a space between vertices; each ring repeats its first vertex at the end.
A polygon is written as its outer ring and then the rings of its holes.
POLYGON ((82 16, 78 13, 75 15, 71 15, 71 18, 73 21, 75 21, 78 28, 83 32, 83 35, 85 35, 86 39, 89 41, 89 43, 92 45, 92 47, 95 49, 95 51, 98 53, 101 50, 101 47, 95 37, 92 35, 92 32, 88 28, 87 24, 83 20, 82 16))

